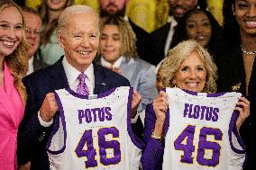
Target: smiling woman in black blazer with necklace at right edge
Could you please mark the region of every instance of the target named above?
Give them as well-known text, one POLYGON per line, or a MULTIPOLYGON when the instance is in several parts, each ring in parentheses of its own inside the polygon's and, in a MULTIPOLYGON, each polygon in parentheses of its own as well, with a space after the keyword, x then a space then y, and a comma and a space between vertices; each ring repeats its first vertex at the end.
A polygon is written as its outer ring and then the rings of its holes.
MULTIPOLYGON (((247 96, 251 112, 256 112, 256 0, 224 0, 225 53, 219 67, 219 90, 247 96), (227 67, 228 66, 228 67, 227 67)), ((251 115, 241 135, 249 153, 251 167, 256 166, 256 117, 251 115), (251 141, 252 140, 252 141, 251 141), (252 152, 252 154, 251 154, 252 152)))

